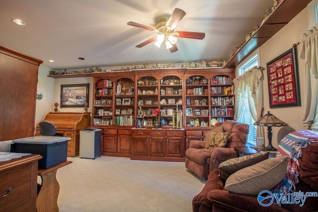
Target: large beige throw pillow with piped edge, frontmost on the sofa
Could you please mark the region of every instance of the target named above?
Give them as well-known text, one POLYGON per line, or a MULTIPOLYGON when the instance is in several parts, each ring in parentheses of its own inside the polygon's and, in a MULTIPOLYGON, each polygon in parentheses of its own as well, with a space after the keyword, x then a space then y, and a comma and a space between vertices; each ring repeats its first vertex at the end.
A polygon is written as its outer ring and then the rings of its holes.
POLYGON ((285 176, 288 156, 274 157, 240 169, 225 183, 225 189, 236 193, 257 196, 263 190, 270 190, 285 176))

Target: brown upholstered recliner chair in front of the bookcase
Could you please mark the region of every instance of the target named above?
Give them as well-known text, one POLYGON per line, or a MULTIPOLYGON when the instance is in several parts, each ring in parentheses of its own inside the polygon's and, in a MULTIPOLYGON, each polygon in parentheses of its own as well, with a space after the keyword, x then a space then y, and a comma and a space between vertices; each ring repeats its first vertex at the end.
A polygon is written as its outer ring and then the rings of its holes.
POLYGON ((202 179, 209 173, 218 169, 219 164, 225 160, 236 157, 234 146, 244 146, 249 126, 237 121, 225 121, 215 124, 215 128, 222 125, 224 132, 230 132, 225 147, 215 147, 211 150, 205 148, 205 141, 190 141, 185 151, 185 167, 202 179))

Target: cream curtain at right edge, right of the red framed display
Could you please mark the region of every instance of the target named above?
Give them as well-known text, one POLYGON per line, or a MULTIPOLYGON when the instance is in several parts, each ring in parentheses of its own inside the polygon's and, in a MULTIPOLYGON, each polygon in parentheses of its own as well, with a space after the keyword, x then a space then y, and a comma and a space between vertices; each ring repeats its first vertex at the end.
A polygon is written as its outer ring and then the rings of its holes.
POLYGON ((318 130, 318 25, 302 34, 299 57, 305 60, 305 114, 303 124, 318 130))

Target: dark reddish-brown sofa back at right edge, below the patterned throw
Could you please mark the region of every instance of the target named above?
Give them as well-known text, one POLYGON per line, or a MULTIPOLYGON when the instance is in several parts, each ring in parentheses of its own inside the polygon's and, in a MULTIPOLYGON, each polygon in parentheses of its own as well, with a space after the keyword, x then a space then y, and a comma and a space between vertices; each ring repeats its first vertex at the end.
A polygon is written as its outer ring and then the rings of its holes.
POLYGON ((303 148, 298 162, 299 179, 318 190, 318 143, 312 142, 303 148))

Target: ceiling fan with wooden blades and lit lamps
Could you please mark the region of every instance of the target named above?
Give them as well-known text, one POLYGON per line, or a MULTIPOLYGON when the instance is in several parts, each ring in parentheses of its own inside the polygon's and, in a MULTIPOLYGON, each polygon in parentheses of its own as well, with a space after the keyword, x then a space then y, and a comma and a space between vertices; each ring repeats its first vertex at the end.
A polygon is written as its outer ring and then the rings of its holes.
POLYGON ((136 47, 141 48, 146 46, 147 44, 156 41, 155 45, 160 48, 161 43, 165 42, 166 49, 169 49, 170 52, 173 53, 178 51, 178 48, 175 45, 177 37, 202 40, 205 37, 205 33, 202 32, 174 31, 174 28, 185 14, 185 11, 183 11, 182 9, 175 8, 169 18, 161 18, 159 20, 159 24, 157 24, 156 28, 129 21, 127 23, 128 25, 158 33, 158 35, 148 39, 147 41, 142 42, 136 47))

